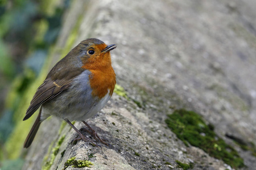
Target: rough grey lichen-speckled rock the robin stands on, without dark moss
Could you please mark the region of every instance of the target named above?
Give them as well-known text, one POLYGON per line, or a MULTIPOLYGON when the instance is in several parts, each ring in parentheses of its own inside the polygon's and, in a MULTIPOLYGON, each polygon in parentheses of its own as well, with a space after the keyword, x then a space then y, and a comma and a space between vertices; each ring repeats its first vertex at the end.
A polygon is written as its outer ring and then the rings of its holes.
POLYGON ((166 115, 177 108, 196 111, 213 124, 244 159, 242 169, 256 167, 255 156, 226 137, 256 139, 255 5, 253 0, 73 1, 52 65, 59 49, 68 52, 88 37, 118 45, 113 67, 127 96, 114 93, 87 121, 112 148, 82 141, 72 146, 75 131, 65 124, 59 130, 61 121, 51 118, 40 127, 23 169, 64 169, 73 156, 89 159, 89 169, 179 169, 176 160, 194 163, 193 169, 231 169, 186 147, 167 128, 166 115))

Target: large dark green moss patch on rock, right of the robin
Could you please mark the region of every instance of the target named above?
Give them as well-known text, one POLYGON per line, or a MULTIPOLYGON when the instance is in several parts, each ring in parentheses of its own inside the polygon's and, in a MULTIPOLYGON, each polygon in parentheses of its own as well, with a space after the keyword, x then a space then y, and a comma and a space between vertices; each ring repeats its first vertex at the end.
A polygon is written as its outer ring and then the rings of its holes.
POLYGON ((199 114, 184 109, 176 110, 168 115, 166 123, 185 145, 188 146, 190 143, 192 146, 199 147, 210 156, 222 159, 233 168, 245 166, 237 151, 217 137, 212 125, 205 124, 199 114))

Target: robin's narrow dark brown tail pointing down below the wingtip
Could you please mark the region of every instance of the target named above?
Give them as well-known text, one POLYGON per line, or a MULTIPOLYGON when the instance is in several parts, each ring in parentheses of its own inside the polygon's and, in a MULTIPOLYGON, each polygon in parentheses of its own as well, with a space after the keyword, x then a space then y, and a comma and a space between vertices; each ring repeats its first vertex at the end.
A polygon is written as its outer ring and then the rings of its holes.
POLYGON ((36 118, 36 121, 30 130, 30 133, 28 133, 28 135, 27 135, 27 138, 23 145, 24 148, 28 148, 31 145, 31 143, 33 142, 33 140, 35 138, 36 132, 38 132, 39 126, 41 124, 41 121, 40 121, 41 111, 42 111, 42 107, 40 108, 38 117, 36 118))

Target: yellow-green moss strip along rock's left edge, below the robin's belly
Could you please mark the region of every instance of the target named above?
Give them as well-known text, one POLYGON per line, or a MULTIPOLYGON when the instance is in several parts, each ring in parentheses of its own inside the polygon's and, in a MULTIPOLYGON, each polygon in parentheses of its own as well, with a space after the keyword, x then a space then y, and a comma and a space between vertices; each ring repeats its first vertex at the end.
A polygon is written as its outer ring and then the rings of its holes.
MULTIPOLYGON (((56 155, 59 153, 60 146, 61 146, 61 144, 63 143, 64 139, 65 139, 65 135, 63 135, 63 136, 59 139, 59 141, 57 142, 57 145, 51 149, 52 154, 51 154, 50 156, 48 156, 48 154, 47 154, 47 155, 44 157, 44 162, 45 162, 45 163, 44 163, 44 165, 43 165, 43 167, 42 167, 42 170, 48 170, 48 169, 51 168, 51 166, 52 166, 52 164, 53 164, 53 162, 54 162, 54 160, 55 160, 55 158, 56 158, 56 155)), ((63 154, 64 154, 64 153, 61 152, 61 155, 63 155, 63 154)))

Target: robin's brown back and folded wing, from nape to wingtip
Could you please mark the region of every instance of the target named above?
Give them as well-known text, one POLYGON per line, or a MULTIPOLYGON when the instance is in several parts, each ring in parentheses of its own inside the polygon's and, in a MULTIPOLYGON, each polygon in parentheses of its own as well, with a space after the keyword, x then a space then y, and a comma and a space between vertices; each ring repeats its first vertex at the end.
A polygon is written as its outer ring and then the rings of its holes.
POLYGON ((30 118, 40 105, 56 97, 71 86, 73 78, 84 71, 81 68, 82 62, 80 59, 83 55, 81 46, 77 45, 67 56, 56 63, 52 70, 49 71, 46 80, 36 91, 23 120, 30 118))

